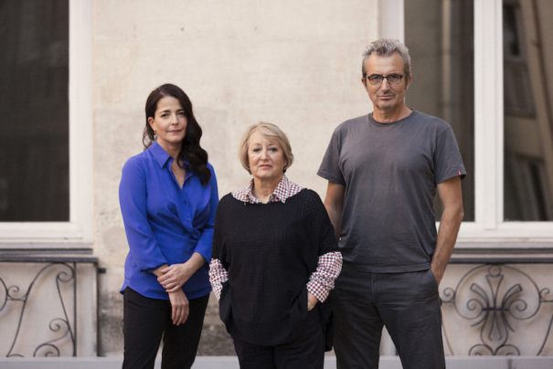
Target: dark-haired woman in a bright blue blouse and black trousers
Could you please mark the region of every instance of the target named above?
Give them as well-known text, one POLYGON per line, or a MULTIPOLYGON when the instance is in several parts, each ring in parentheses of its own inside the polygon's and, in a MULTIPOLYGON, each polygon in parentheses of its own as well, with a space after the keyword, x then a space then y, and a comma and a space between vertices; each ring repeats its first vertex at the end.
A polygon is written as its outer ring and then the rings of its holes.
POLYGON ((190 368, 211 291, 217 180, 183 90, 160 86, 145 111, 145 150, 125 163, 119 187, 130 248, 122 366, 154 368, 163 337, 162 368, 190 368))

